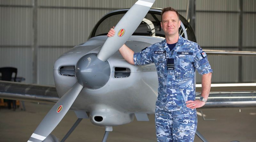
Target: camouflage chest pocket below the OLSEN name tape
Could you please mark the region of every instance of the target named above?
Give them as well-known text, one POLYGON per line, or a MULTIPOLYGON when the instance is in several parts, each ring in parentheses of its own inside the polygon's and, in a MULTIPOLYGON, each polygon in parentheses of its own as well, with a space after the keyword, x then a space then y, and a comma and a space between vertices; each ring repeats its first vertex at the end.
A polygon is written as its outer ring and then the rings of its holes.
POLYGON ((175 57, 175 78, 187 79, 193 74, 193 56, 192 55, 177 55, 175 57))

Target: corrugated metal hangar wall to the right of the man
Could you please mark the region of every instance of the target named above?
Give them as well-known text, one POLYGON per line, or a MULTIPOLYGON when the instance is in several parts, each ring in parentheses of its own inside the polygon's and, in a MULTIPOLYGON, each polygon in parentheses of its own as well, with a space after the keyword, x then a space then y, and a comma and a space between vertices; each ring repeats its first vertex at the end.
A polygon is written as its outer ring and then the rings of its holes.
MULTIPOLYGON (((198 43, 203 49, 239 50, 241 46, 243 51, 255 51, 255 11, 255 0, 196 0, 198 43)), ((238 56, 208 56, 208 59, 213 68, 213 83, 256 82, 255 56, 241 57, 241 64, 238 56)), ((200 83, 201 76, 197 74, 196 77, 200 83)))

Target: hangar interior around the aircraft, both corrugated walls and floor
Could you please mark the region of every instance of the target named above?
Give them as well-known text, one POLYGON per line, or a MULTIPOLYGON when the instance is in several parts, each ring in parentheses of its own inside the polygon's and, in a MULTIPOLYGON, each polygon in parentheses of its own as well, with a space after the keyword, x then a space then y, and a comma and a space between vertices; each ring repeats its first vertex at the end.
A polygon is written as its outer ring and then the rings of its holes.
MULTIPOLYGON (((136 1, 0 0, 0 67, 17 68, 17 76, 25 78, 23 83, 54 85, 52 72, 56 59, 87 41, 102 16, 129 8, 136 1)), ((188 0, 156 0, 152 7, 171 6, 185 17, 187 3, 188 0)), ((195 33, 203 49, 256 51, 255 23, 255 0, 196 0, 195 33)), ((256 82, 255 56, 208 56, 208 59, 213 68, 212 83, 256 82)), ((201 83, 199 74, 196 83, 201 83)), ((38 104, 25 102, 26 111, 0 109, 0 141, 28 140, 53 105, 38 104)), ((206 118, 216 119, 204 121, 198 115, 198 130, 209 141, 255 141, 255 108, 200 110, 206 118)), ((63 138, 76 119, 75 113, 69 111, 53 134, 63 138)), ((149 115, 149 120, 134 120, 115 127, 109 141, 156 141, 154 115, 149 115)), ((104 130, 87 119, 67 141, 100 141, 104 130)), ((201 140, 196 137, 195 141, 201 140)))

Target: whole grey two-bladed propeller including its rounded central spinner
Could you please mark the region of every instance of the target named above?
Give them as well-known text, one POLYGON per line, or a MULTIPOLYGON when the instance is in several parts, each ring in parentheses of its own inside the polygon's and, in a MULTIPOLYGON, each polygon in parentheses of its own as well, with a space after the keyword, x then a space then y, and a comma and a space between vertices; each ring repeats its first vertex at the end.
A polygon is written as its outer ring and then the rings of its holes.
POLYGON ((138 0, 117 23, 115 30, 118 34, 105 41, 98 55, 91 53, 78 60, 75 69, 77 82, 51 108, 28 142, 42 142, 60 123, 84 87, 98 89, 108 82, 110 66, 107 59, 128 40, 154 2, 138 0))

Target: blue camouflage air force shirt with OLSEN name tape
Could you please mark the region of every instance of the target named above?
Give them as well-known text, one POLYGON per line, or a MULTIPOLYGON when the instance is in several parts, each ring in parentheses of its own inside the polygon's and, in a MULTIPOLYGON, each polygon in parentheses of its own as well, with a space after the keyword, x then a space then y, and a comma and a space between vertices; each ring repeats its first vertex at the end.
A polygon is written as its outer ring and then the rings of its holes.
POLYGON ((195 101, 195 69, 201 75, 212 72, 202 48, 181 36, 171 51, 164 40, 134 53, 133 59, 135 65, 155 63, 158 75, 156 108, 167 111, 180 110, 186 101, 195 101))

